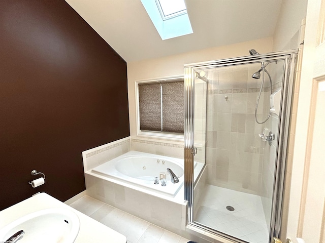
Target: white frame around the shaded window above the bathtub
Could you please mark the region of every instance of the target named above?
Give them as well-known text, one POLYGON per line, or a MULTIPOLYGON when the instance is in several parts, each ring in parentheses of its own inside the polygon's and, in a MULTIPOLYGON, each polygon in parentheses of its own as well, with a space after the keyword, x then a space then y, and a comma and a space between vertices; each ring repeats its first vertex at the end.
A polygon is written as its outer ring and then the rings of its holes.
POLYGON ((137 137, 151 138, 151 139, 165 139, 173 141, 184 141, 184 134, 161 132, 161 131, 141 131, 140 130, 140 106, 139 106, 139 84, 154 84, 161 82, 176 82, 179 79, 184 80, 183 75, 163 77, 163 78, 150 78, 146 80, 137 80, 135 82, 136 91, 136 116, 137 116, 137 137))

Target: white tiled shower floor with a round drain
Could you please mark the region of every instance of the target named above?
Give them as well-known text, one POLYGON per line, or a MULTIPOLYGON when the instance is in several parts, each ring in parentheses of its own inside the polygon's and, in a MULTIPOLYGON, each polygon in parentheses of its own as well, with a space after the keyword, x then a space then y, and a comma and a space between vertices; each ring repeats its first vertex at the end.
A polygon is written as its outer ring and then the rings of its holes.
MULTIPOLYGON (((195 207, 195 206, 194 206, 195 207)), ((261 197, 206 185, 194 221, 251 243, 268 242, 261 197), (232 206, 234 211, 228 211, 232 206)))

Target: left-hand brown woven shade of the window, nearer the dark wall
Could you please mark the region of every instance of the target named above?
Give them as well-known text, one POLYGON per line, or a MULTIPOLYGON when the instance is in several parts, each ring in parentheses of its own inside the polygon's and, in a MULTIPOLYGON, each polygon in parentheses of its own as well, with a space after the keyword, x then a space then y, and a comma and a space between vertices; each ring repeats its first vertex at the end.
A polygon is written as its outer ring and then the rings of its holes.
POLYGON ((140 130, 161 131, 160 83, 139 84, 140 130))

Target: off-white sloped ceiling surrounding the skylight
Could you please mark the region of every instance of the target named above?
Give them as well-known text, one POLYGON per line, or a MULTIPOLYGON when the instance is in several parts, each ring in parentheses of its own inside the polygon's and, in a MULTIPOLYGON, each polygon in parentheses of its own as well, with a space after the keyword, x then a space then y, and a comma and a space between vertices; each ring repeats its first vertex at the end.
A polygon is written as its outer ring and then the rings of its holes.
POLYGON ((273 36, 282 4, 282 0, 185 0, 193 33, 162 41, 140 0, 66 2, 126 62, 273 36))

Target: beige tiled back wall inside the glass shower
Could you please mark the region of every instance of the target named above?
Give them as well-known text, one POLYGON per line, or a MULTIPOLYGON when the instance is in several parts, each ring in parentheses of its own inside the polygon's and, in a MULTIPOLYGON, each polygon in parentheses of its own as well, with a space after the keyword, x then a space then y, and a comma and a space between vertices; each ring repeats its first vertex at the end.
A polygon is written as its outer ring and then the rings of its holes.
MULTIPOLYGON (((254 117, 261 79, 251 77, 259 68, 260 64, 250 64, 210 71, 206 161, 207 183, 261 195, 264 142, 258 134, 265 125, 254 117)), ((265 89, 261 95, 259 120, 268 114, 269 94, 265 89)))

